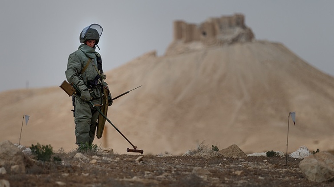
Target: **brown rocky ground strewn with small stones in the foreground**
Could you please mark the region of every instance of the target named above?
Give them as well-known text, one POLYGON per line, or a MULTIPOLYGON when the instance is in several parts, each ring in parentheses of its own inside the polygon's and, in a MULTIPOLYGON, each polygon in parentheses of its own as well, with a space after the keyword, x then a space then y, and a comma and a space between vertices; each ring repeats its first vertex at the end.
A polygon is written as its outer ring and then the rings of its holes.
MULTIPOLYGON (((32 156, 30 156, 33 158, 32 156)), ((61 161, 35 161, 24 174, 0 174, 15 186, 334 186, 311 182, 298 167, 302 159, 56 153, 61 161), (142 156, 142 157, 141 157, 142 156)), ((0 185, 1 186, 1 185, 0 185)))

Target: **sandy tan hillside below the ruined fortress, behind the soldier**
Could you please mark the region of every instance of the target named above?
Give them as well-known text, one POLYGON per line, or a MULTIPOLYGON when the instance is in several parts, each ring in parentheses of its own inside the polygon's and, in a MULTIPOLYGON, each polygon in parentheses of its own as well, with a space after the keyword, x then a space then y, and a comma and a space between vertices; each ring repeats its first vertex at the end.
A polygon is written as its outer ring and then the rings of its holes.
MULTIPOLYGON (((144 153, 182 154, 205 141, 244 152, 286 150, 301 145, 334 149, 334 79, 314 69, 284 45, 264 41, 234 44, 177 56, 139 57, 106 73, 114 101, 108 117, 144 153), (290 119, 291 120, 291 119, 290 119)), ((71 98, 58 88, 0 93, 0 141, 39 142, 75 148, 71 98)), ((109 124, 95 143, 124 153, 131 147, 109 124)))

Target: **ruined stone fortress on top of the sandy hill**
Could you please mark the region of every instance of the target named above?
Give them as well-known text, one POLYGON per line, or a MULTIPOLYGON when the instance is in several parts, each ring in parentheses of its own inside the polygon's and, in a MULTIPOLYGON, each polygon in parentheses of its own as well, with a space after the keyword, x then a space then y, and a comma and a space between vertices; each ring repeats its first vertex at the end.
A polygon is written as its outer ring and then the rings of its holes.
POLYGON ((209 18, 200 25, 174 22, 174 39, 165 55, 176 55, 207 47, 250 42, 254 34, 244 23, 242 14, 209 18))

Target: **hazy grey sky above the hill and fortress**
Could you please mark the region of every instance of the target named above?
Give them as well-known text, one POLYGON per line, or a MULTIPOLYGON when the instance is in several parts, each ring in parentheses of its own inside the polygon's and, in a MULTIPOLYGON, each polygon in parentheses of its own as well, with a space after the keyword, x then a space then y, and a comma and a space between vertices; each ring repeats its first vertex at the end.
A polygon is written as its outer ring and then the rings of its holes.
POLYGON ((98 52, 109 71, 151 50, 163 55, 175 20, 200 24, 234 13, 256 39, 283 43, 334 76, 332 0, 1 0, 0 92, 59 86, 79 33, 92 23, 104 28, 98 52))

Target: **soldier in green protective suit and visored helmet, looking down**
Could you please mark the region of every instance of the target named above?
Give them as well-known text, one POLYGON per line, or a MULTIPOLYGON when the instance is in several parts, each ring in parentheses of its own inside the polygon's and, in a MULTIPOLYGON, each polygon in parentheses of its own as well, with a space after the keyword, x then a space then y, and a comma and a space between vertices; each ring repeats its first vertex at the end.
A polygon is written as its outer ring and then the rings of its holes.
MULTIPOLYGON (((75 95, 73 103, 76 144, 78 150, 87 150, 87 145, 92 147, 95 132, 101 138, 105 119, 90 106, 87 101, 92 101, 95 106, 107 114, 108 106, 112 105, 112 97, 109 92, 106 79, 102 70, 102 59, 96 47, 103 28, 98 24, 92 24, 82 30, 79 36, 81 45, 78 50, 68 57, 66 79, 74 84, 81 92, 75 95), (96 130, 98 129, 98 130, 96 130)), ((99 48, 100 49, 100 48, 99 48)))

